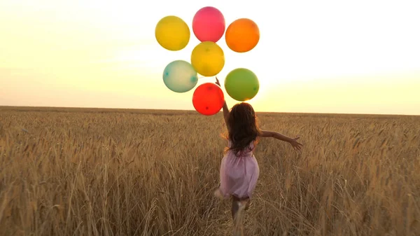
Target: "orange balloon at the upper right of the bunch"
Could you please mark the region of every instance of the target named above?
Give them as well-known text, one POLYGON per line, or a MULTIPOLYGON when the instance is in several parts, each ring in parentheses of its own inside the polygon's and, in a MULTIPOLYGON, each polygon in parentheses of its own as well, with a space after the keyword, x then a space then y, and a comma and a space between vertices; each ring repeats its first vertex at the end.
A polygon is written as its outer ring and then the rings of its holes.
POLYGON ((260 29, 252 20, 241 18, 232 22, 226 29, 225 40, 231 50, 245 53, 257 46, 260 41, 260 29))

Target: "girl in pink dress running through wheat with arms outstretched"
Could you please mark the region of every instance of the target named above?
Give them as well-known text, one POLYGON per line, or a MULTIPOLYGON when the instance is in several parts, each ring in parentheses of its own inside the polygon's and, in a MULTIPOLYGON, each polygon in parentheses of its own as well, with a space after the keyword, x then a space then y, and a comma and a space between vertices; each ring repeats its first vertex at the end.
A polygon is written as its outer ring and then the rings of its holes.
MULTIPOLYGON (((217 77, 216 84, 221 86, 217 77)), ((221 185, 215 195, 222 199, 232 197, 234 235, 242 235, 243 211, 248 209, 249 200, 260 174, 258 162, 253 155, 258 138, 273 137, 287 141, 297 151, 302 144, 297 142, 299 137, 292 139, 278 132, 260 130, 255 111, 248 103, 236 104, 229 111, 225 102, 223 116, 228 127, 229 145, 221 163, 221 185)))

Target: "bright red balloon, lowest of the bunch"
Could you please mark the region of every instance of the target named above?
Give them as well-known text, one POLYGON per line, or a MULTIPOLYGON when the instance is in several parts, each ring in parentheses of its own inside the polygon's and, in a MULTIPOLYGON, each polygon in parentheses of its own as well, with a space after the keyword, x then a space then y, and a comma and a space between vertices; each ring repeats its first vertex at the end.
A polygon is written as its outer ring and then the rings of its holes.
POLYGON ((205 116, 212 116, 221 111, 225 103, 225 95, 214 83, 203 83, 193 94, 193 105, 196 111, 205 116))

